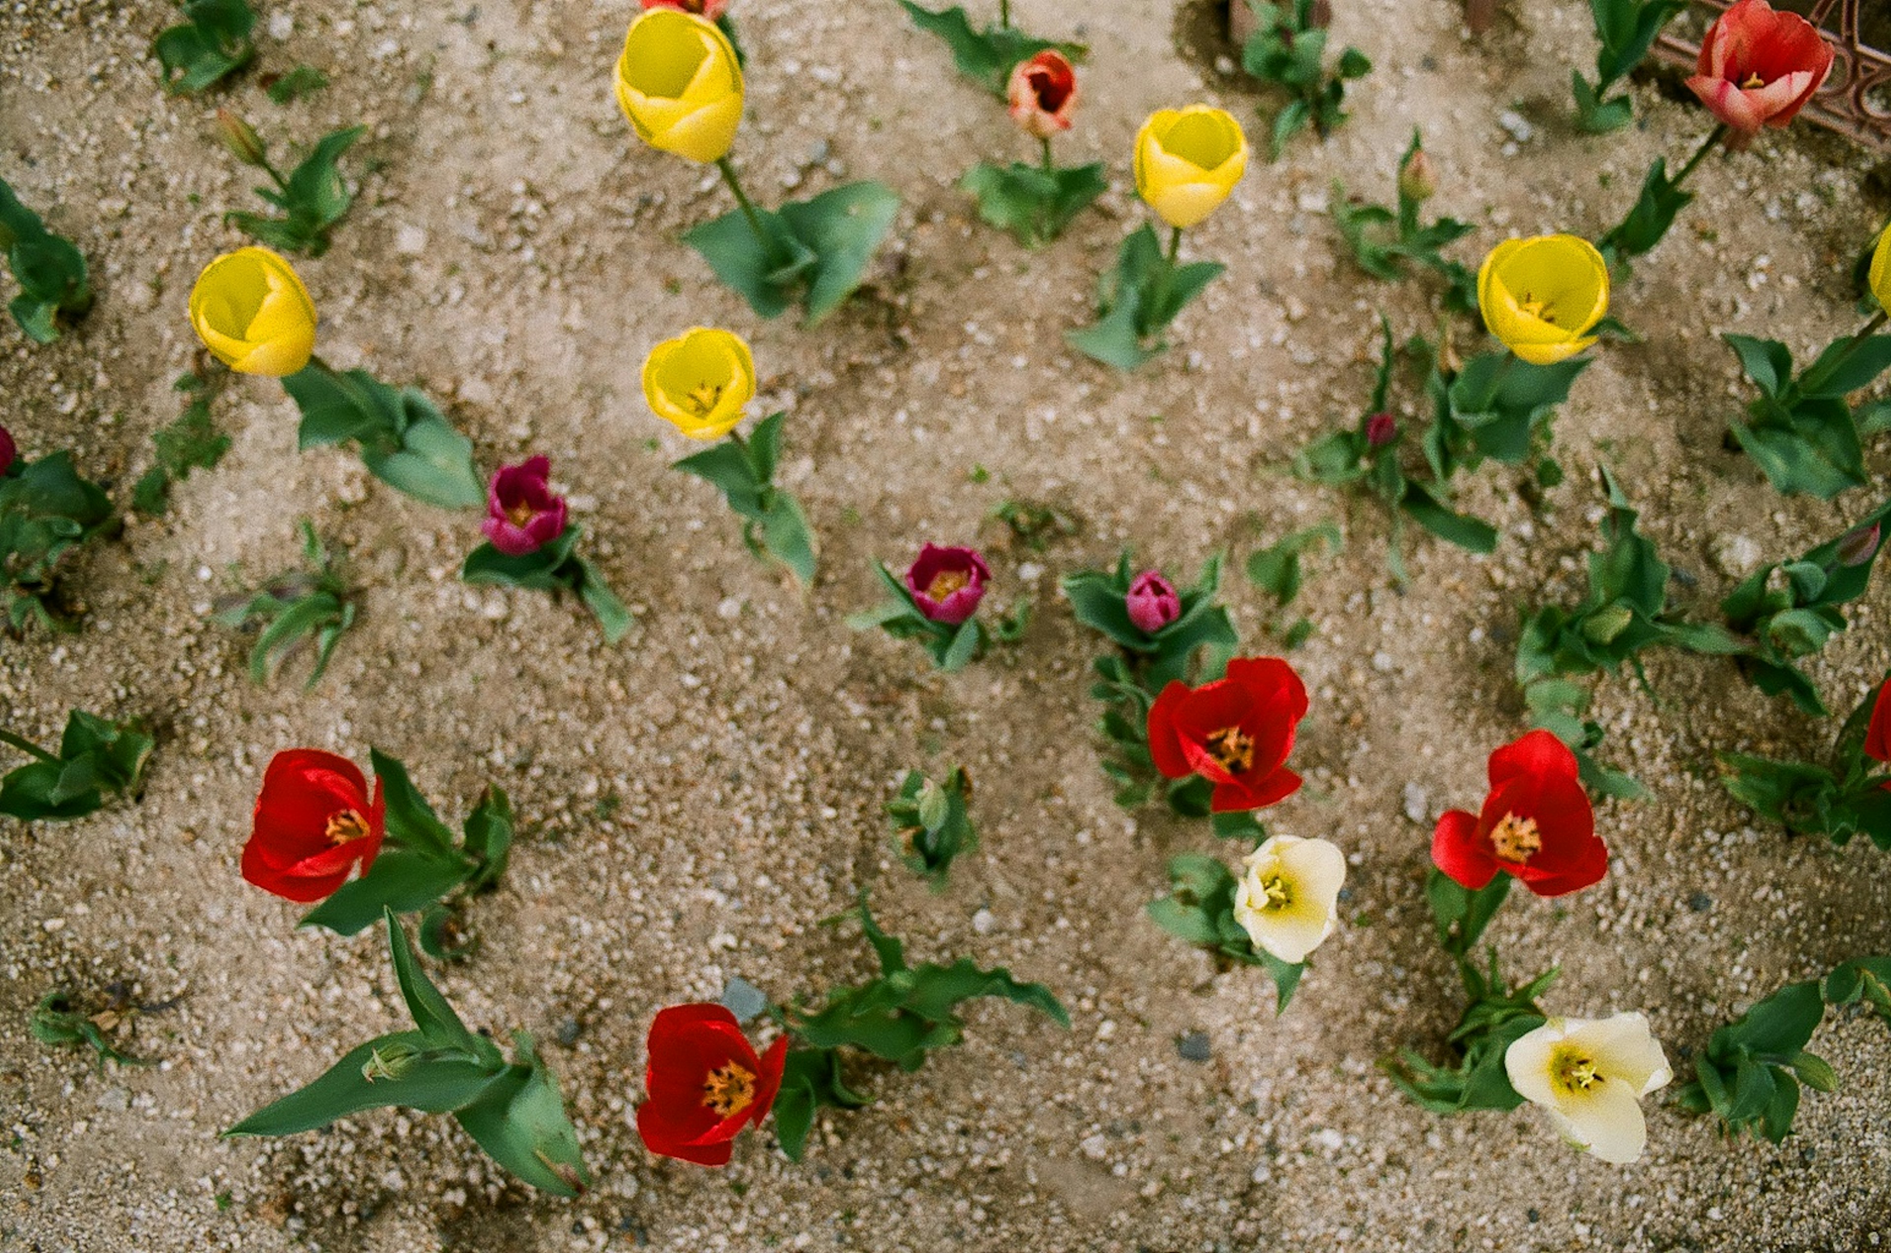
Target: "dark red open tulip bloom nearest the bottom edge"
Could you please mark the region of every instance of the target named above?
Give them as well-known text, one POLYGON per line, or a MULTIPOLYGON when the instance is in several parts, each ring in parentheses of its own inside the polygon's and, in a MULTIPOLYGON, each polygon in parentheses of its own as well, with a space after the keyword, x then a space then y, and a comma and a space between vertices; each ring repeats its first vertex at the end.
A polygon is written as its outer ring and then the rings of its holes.
POLYGON ((669 1005, 651 1022, 649 1100, 637 1106, 643 1147, 698 1166, 726 1166, 741 1128, 762 1124, 781 1090, 783 1036, 756 1056, 722 1005, 669 1005))

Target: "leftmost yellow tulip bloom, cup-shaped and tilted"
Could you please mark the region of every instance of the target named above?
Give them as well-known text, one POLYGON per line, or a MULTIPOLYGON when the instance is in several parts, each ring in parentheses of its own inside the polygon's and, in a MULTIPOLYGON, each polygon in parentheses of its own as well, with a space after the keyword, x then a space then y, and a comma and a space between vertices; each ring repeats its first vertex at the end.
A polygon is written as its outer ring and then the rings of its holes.
POLYGON ((191 329, 238 374, 282 378, 316 352, 316 302, 287 261, 267 248, 238 248, 197 276, 191 329))

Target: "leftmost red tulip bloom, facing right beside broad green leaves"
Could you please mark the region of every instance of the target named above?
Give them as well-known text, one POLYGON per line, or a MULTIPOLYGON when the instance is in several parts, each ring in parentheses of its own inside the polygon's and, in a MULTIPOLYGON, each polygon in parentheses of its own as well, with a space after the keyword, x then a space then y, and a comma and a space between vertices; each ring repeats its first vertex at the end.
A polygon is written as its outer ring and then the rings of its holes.
POLYGON ((255 824, 242 847, 242 877, 276 896, 310 903, 374 864, 388 803, 348 758, 320 748, 278 752, 263 771, 255 824))

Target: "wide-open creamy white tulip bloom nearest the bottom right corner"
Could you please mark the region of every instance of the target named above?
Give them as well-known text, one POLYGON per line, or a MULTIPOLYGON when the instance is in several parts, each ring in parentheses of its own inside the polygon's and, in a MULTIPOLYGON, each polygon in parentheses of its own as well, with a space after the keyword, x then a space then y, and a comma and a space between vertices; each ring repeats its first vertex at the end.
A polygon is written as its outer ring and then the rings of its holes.
POLYGON ((1615 1164, 1641 1157, 1641 1098, 1674 1077, 1639 1013, 1551 1019, 1503 1053, 1503 1070, 1570 1143, 1615 1164))

